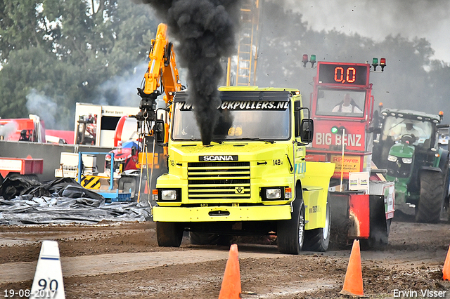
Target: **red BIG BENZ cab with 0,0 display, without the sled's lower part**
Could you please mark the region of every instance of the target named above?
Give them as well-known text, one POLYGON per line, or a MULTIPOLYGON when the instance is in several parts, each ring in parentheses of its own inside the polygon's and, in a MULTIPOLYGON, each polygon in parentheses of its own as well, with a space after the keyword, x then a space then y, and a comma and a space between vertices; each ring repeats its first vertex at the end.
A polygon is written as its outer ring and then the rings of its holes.
POLYGON ((342 178, 348 179, 351 171, 371 169, 373 96, 369 70, 367 64, 318 62, 311 109, 314 140, 307 159, 335 163, 335 184, 340 183, 341 171, 342 178))

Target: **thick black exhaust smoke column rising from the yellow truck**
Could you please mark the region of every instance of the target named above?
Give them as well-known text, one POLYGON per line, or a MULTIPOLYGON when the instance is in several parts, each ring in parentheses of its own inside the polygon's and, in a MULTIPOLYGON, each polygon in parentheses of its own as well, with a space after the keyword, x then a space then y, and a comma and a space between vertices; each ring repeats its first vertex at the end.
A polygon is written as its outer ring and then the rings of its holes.
POLYGON ((188 69, 188 101, 194 107, 203 145, 210 145, 219 119, 217 87, 224 76, 221 58, 235 51, 241 0, 140 1, 155 8, 179 41, 176 57, 181 67, 188 69))

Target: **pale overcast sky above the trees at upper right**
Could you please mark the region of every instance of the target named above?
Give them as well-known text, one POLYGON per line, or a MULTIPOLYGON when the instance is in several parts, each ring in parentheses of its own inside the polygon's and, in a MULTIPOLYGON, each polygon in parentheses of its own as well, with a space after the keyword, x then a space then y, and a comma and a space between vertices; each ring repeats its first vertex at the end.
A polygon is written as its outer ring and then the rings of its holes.
POLYGON ((450 0, 285 0, 314 30, 337 29, 383 41, 425 37, 433 58, 450 63, 450 0))

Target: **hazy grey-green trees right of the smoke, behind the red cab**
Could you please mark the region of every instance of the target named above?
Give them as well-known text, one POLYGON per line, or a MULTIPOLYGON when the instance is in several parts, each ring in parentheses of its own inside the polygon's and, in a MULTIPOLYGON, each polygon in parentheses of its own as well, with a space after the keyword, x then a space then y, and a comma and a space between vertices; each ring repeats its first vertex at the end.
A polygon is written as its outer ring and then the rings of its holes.
POLYGON ((375 103, 432 114, 442 110, 444 121, 450 122, 445 117, 450 114, 450 65, 431 58, 434 50, 426 39, 387 35, 375 42, 337 30, 317 32, 308 29, 300 13, 285 11, 276 1, 265 2, 262 22, 257 62, 260 86, 298 87, 309 99, 316 69, 303 67, 304 53, 333 62, 371 63, 374 57, 386 58, 384 72, 378 67, 377 73, 371 73, 375 103))

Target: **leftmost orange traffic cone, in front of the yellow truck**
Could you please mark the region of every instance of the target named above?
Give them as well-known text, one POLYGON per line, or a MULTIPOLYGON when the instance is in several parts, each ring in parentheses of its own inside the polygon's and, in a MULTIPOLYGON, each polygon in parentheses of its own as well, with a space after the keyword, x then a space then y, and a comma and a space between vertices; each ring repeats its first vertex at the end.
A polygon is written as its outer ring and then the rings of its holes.
POLYGON ((233 244, 230 247, 229 257, 226 261, 224 280, 220 288, 219 299, 239 299, 240 292, 238 245, 233 244))

